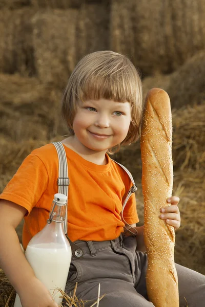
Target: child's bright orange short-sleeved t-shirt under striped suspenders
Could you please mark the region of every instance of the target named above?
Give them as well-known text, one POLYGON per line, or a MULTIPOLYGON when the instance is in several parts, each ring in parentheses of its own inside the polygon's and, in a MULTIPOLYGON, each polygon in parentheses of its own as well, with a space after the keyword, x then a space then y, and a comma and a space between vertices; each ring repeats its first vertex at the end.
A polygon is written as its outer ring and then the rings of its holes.
MULTIPOLYGON (((111 240, 124 231, 120 220, 122 202, 132 182, 128 174, 108 158, 106 165, 85 160, 64 145, 70 178, 68 192, 68 236, 75 240, 111 240)), ((24 220, 23 247, 44 228, 58 192, 58 156, 53 144, 35 149, 23 161, 0 199, 28 210, 24 220)), ((135 195, 124 210, 128 224, 137 223, 135 195)))

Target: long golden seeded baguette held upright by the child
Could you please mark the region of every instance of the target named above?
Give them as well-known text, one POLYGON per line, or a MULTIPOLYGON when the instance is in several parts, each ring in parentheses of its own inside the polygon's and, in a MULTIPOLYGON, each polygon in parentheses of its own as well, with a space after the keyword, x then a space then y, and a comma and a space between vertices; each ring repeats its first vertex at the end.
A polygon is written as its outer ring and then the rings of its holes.
POLYGON ((169 206, 167 199, 173 188, 172 114, 169 96, 161 89, 147 94, 140 146, 148 297, 155 307, 178 307, 175 231, 159 217, 160 209, 169 206))

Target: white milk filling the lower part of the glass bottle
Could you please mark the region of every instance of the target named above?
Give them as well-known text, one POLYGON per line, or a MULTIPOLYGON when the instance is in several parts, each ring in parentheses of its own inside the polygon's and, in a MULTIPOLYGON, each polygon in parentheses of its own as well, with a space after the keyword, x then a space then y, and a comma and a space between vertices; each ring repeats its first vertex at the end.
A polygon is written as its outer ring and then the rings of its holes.
MULTIPOLYGON (((45 284, 54 301, 59 305, 62 301, 62 298, 59 298, 61 294, 54 289, 65 290, 71 262, 71 247, 56 245, 56 243, 28 245, 25 256, 35 276, 45 284)), ((14 307, 22 307, 18 295, 16 295, 14 307)))

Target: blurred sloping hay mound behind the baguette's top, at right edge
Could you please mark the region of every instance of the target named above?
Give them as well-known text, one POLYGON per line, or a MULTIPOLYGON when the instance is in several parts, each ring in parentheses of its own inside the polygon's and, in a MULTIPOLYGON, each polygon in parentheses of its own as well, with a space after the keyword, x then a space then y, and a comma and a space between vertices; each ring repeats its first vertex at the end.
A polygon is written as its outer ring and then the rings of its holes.
POLYGON ((171 100, 172 108, 187 104, 200 104, 205 101, 205 52, 197 53, 178 70, 170 75, 155 74, 145 78, 144 99, 152 87, 165 90, 171 100))

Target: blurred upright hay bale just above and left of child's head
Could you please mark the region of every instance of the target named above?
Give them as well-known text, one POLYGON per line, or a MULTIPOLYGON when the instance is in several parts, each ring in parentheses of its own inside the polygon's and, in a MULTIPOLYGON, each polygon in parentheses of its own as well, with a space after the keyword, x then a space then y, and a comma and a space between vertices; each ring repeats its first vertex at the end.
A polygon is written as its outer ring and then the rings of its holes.
POLYGON ((32 19, 35 67, 43 83, 63 89, 76 64, 77 10, 40 10, 32 19))

